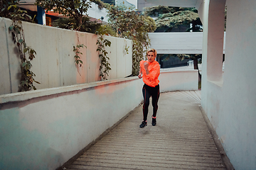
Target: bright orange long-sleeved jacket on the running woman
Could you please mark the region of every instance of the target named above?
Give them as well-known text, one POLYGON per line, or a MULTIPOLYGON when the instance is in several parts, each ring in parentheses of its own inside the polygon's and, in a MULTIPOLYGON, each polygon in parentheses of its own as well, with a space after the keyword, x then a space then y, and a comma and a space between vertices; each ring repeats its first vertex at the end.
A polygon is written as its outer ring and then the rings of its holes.
POLYGON ((144 81, 144 84, 148 85, 148 86, 152 86, 155 87, 159 84, 159 74, 160 74, 160 65, 159 62, 156 62, 156 60, 154 62, 148 62, 148 61, 144 61, 142 60, 139 63, 139 66, 142 69, 142 79, 144 81), (149 63, 149 74, 146 75, 146 69, 144 68, 144 62, 149 63))

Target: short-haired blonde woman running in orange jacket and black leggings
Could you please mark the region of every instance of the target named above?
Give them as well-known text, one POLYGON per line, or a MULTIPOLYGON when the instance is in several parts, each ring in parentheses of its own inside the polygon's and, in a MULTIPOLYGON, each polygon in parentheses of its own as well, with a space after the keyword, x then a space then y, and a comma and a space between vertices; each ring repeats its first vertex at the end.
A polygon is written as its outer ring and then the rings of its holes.
POLYGON ((149 98, 152 97, 152 106, 153 106, 153 115, 152 122, 153 126, 156 125, 156 112, 157 112, 157 102, 159 100, 159 74, 160 74, 160 65, 159 62, 156 62, 156 50, 153 48, 147 50, 146 52, 147 60, 142 60, 139 63, 139 79, 144 81, 144 86, 142 88, 142 94, 144 98, 143 103, 143 121, 139 125, 139 128, 144 128, 147 125, 147 115, 149 113, 149 98))

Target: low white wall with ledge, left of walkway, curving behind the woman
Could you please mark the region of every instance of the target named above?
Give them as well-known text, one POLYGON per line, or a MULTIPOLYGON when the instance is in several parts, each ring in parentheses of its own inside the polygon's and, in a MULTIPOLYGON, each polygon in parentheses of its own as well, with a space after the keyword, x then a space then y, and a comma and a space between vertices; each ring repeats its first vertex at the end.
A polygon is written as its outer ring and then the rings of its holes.
MULTIPOLYGON (((196 90, 197 72, 161 71, 160 90, 196 90)), ((0 169, 56 169, 142 101, 138 77, 0 95, 0 169)))

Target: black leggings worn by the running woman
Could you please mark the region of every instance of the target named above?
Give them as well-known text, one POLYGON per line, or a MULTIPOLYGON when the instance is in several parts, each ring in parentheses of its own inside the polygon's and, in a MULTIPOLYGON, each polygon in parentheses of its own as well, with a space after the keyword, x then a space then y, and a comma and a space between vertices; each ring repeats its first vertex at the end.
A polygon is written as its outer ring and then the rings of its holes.
POLYGON ((149 98, 152 96, 152 106, 153 106, 153 115, 152 117, 156 117, 157 112, 157 102, 159 100, 159 85, 155 87, 148 86, 144 84, 142 89, 142 94, 144 97, 144 104, 143 104, 143 120, 146 121, 147 115, 149 113, 149 98))

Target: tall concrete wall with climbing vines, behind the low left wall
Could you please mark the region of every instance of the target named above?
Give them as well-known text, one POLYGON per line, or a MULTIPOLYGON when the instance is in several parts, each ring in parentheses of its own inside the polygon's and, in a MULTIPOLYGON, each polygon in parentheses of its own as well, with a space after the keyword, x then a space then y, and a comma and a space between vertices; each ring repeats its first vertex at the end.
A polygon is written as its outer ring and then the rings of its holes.
MULTIPOLYGON (((8 28, 11 21, 0 18, 0 94, 10 94, 18 91, 19 60, 16 46, 12 42, 8 28)), ((36 50, 36 58, 31 62, 32 71, 36 74, 34 84, 37 89, 58 86, 90 83, 100 81, 100 59, 97 50, 97 35, 81 33, 41 26, 33 23, 23 23, 26 44, 36 50), (84 44, 87 48, 80 48, 83 53, 82 67, 75 66, 75 52, 73 46, 84 44)), ((107 79, 124 78, 132 74, 132 40, 105 37, 112 42, 107 47, 110 57, 110 76, 107 79), (129 54, 124 54, 124 46, 129 47, 129 54)))

